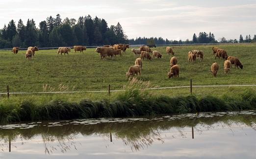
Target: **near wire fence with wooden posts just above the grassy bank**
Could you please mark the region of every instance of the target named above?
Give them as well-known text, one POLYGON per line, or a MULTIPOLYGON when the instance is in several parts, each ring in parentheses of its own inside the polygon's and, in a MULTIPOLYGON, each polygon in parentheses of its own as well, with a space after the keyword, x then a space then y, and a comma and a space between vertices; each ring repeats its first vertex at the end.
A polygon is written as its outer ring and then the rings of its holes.
MULTIPOLYGON (((197 87, 255 87, 256 84, 241 84, 241 85, 191 85, 190 86, 175 86, 175 87, 159 87, 159 88, 145 88, 140 90, 163 90, 163 89, 175 89, 175 88, 197 88, 197 87)), ((7 87, 6 87, 7 88, 7 87)), ((0 93, 0 95, 21 95, 21 94, 72 94, 72 93, 109 93, 110 92, 122 92, 126 91, 126 89, 122 90, 110 90, 110 85, 108 87, 108 90, 99 90, 99 91, 63 91, 63 92, 9 92, 9 89, 7 88, 7 91, 5 93, 0 93)), ((192 93, 192 89, 191 89, 192 93)))

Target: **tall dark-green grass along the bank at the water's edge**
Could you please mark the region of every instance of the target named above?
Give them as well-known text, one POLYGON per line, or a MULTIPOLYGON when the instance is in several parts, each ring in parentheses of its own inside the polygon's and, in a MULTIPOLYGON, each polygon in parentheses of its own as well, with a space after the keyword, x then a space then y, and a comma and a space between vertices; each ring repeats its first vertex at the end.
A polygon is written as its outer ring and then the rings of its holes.
POLYGON ((195 96, 156 96, 145 90, 149 87, 152 87, 149 82, 132 79, 128 85, 124 86, 126 91, 111 101, 109 99, 101 101, 84 99, 77 103, 53 99, 46 104, 39 104, 26 99, 21 103, 6 99, 0 102, 0 122, 135 117, 256 109, 256 91, 254 90, 247 90, 236 97, 225 95, 222 98, 212 96, 197 98, 195 96))

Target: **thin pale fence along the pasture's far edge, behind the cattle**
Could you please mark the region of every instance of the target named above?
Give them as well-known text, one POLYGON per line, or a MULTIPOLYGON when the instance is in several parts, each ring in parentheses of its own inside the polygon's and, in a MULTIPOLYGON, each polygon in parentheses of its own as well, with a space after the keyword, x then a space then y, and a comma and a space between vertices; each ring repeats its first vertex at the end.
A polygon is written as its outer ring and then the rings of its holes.
MULTIPOLYGON (((239 45, 239 44, 252 44, 252 43, 189 43, 189 44, 161 44, 161 45, 155 45, 155 46, 187 46, 187 45, 239 45)), ((140 47, 145 44, 131 44, 130 47, 140 47)), ((69 46, 71 49, 74 48, 74 46, 69 46)), ((103 45, 98 46, 86 46, 86 48, 96 48, 96 47, 103 47, 103 45)), ((39 50, 52 50, 52 49, 58 49, 59 47, 39 47, 39 50)), ((3 48, 0 49, 0 51, 11 51, 12 48, 3 48)), ((27 48, 20 48, 19 50, 27 50, 27 48)))

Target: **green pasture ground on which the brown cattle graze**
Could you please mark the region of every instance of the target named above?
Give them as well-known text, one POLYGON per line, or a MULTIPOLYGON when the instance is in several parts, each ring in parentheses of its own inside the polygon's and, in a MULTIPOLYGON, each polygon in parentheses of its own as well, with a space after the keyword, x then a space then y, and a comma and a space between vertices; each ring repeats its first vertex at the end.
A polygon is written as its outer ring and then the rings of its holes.
MULTIPOLYGON (((143 81, 150 81, 152 86, 171 87, 189 85, 193 79, 193 85, 222 85, 222 84, 256 84, 256 45, 218 45, 225 49, 229 56, 235 56, 244 64, 243 70, 231 69, 229 75, 224 75, 222 59, 214 59, 212 45, 197 46, 174 46, 173 50, 178 58, 181 68, 179 78, 168 79, 167 71, 170 70, 169 61, 171 56, 165 52, 165 47, 152 48, 159 51, 162 59, 143 61, 143 81), (195 63, 187 61, 187 53, 193 49, 203 50, 204 60, 199 59, 195 63), (214 78, 210 71, 213 62, 218 62, 220 71, 214 78)), ((128 79, 125 74, 129 66, 134 65, 137 58, 128 49, 122 57, 117 56, 114 60, 108 58, 101 60, 95 49, 87 49, 84 54, 74 54, 73 50, 69 56, 56 56, 57 50, 42 50, 35 54, 32 60, 26 60, 25 51, 13 55, 11 51, 0 51, 0 92, 6 92, 6 85, 10 86, 10 92, 42 92, 42 91, 94 91, 107 90, 108 84, 111 89, 122 89, 128 79), (44 85, 47 84, 47 87, 44 85), (59 85, 64 85, 58 88, 59 85)), ((250 88, 250 87, 249 87, 250 88)), ((200 95, 224 94, 230 90, 236 93, 246 88, 197 88, 200 95)), ((256 89, 256 87, 252 87, 256 89)), ((153 91, 157 94, 179 95, 188 94, 188 89, 172 89, 153 91)), ((98 93, 91 98, 101 98, 105 94, 98 93)), ((59 95, 69 96, 69 95, 59 95)), ((70 95, 77 96, 77 95, 70 95)), ((78 95, 90 97, 91 94, 78 95)))

